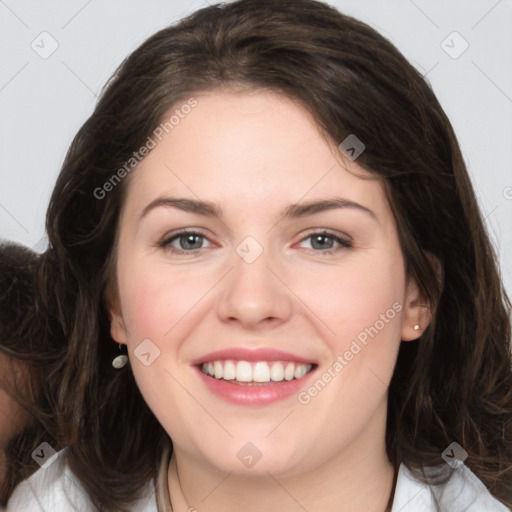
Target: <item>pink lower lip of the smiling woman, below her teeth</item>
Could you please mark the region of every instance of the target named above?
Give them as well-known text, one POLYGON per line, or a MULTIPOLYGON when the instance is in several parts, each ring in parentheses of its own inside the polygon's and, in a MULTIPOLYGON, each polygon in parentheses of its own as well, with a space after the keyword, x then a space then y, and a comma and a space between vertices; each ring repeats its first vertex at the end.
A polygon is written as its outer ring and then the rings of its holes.
POLYGON ((278 400, 284 400, 296 395, 309 382, 315 369, 300 379, 284 380, 282 382, 248 384, 231 384, 230 381, 214 379, 205 375, 197 366, 200 379, 216 396, 237 405, 266 405, 278 400))

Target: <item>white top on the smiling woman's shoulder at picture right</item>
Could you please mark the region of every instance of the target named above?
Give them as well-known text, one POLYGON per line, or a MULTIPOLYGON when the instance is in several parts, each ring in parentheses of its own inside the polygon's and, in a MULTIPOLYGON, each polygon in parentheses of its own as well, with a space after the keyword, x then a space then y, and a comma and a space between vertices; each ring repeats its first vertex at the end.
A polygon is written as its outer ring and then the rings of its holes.
MULTIPOLYGON (((427 475, 439 474, 438 468, 425 468, 427 475)), ((465 465, 454 469, 444 485, 428 485, 417 481, 412 473, 400 465, 392 512, 435 511, 435 500, 441 512, 510 512, 510 509, 492 496, 482 481, 465 465)))

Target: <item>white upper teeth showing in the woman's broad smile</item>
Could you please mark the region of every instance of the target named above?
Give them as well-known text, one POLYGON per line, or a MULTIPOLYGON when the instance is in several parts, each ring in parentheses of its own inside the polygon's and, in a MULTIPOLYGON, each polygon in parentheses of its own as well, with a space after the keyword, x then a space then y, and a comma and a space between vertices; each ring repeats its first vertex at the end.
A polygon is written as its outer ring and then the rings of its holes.
POLYGON ((287 361, 209 361, 203 363, 204 374, 216 379, 237 380, 238 382, 282 382, 300 379, 312 368, 311 364, 287 361))

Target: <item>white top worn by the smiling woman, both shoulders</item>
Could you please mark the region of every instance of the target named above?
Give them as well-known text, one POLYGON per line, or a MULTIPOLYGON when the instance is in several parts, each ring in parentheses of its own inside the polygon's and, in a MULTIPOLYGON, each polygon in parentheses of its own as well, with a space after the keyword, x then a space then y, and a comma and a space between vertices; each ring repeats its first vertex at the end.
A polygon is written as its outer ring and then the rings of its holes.
MULTIPOLYGON (((16 488, 7 505, 7 512, 94 510, 80 482, 66 464, 66 457, 61 457, 61 454, 62 451, 49 467, 39 469, 16 488)), ((435 512, 432 494, 436 495, 441 512, 511 512, 489 493, 464 464, 454 470, 444 486, 431 487, 414 480, 401 464, 392 512, 435 512)), ((153 482, 148 484, 146 496, 134 503, 130 510, 158 512, 153 482)))

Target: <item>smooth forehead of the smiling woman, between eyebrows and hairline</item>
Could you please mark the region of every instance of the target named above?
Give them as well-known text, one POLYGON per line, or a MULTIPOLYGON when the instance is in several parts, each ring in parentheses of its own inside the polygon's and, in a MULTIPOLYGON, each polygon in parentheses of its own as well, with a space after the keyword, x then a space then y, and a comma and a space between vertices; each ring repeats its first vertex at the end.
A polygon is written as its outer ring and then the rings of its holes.
MULTIPOLYGON (((158 195, 179 193, 238 201, 253 212, 328 195, 385 208, 376 176, 345 159, 292 99, 262 90, 210 91, 194 98, 197 105, 164 132, 130 176, 125 205, 143 208, 158 195)), ((179 109, 174 105, 165 118, 179 109)))

